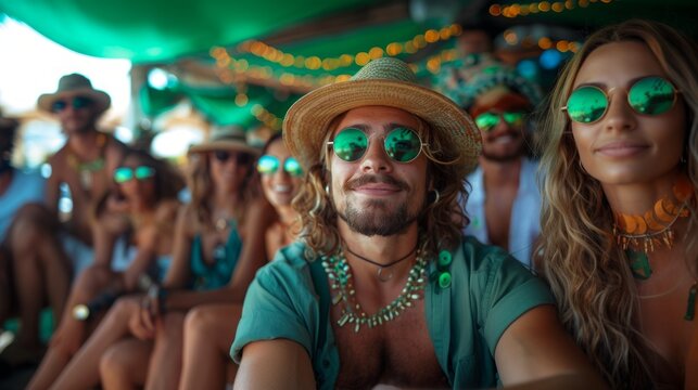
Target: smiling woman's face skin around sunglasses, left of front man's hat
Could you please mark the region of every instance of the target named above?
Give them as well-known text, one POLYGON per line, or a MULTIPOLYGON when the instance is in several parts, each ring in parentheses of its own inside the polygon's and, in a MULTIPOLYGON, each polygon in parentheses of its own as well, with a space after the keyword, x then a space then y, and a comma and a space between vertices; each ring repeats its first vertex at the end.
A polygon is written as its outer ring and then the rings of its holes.
POLYGON ((283 168, 291 154, 279 139, 269 145, 266 155, 276 157, 279 164, 275 172, 261 174, 264 195, 276 208, 290 206, 302 183, 301 177, 292 176, 283 168))

